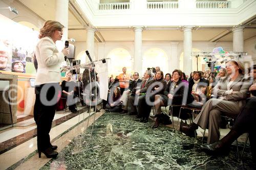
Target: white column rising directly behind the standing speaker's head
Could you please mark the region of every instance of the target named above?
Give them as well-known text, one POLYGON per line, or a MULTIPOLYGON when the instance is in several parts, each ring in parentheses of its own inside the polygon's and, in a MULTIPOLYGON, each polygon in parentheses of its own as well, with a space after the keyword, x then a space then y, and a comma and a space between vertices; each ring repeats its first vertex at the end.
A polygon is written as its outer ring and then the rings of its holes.
POLYGON ((62 41, 65 42, 68 40, 69 0, 55 1, 55 20, 59 21, 65 27, 62 35, 62 41))

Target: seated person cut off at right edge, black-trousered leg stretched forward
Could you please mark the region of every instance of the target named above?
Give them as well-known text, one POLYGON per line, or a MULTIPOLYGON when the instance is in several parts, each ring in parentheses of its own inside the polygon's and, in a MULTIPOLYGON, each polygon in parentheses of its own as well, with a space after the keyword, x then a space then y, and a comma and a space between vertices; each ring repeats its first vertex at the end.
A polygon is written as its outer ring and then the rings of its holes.
MULTIPOLYGON (((256 71, 256 69, 254 69, 256 71)), ((251 155, 253 161, 253 168, 256 168, 256 131, 254 123, 256 122, 256 84, 250 86, 251 98, 246 100, 246 105, 239 113, 236 121, 229 133, 221 140, 211 144, 200 145, 200 148, 210 155, 225 155, 229 151, 229 147, 234 140, 236 140, 243 133, 249 134, 251 155)))

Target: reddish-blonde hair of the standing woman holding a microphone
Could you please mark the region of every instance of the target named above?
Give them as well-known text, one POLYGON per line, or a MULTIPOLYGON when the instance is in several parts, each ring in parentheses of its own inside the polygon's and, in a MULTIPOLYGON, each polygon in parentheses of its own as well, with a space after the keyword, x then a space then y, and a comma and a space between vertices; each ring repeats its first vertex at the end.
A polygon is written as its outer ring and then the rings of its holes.
POLYGON ((55 20, 47 20, 44 27, 40 29, 38 38, 51 37, 55 30, 62 30, 65 28, 61 23, 55 20))

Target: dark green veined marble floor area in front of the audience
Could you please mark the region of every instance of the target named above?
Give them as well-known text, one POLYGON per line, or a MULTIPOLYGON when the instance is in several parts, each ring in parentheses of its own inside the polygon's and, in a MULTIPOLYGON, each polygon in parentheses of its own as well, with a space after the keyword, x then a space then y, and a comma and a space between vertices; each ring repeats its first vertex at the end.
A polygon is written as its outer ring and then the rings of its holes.
POLYGON ((152 121, 144 124, 135 120, 135 116, 106 112, 95 122, 89 145, 86 143, 91 129, 82 136, 83 147, 77 150, 74 140, 57 159, 41 169, 248 169, 250 166, 249 149, 243 162, 237 160, 235 147, 228 156, 207 156, 199 149, 201 138, 184 136, 163 125, 152 129, 152 121), (74 151, 77 154, 72 154, 74 151))

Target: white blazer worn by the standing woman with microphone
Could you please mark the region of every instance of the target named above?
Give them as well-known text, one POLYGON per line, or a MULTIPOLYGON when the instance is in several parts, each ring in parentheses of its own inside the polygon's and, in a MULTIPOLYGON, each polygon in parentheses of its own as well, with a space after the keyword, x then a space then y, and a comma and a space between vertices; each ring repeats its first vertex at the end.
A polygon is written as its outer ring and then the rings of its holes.
POLYGON ((65 61, 64 55, 50 37, 39 40, 35 56, 38 63, 35 85, 61 82, 60 63, 65 61))

